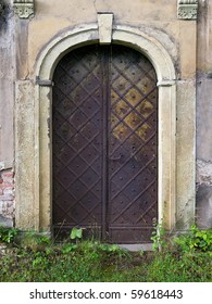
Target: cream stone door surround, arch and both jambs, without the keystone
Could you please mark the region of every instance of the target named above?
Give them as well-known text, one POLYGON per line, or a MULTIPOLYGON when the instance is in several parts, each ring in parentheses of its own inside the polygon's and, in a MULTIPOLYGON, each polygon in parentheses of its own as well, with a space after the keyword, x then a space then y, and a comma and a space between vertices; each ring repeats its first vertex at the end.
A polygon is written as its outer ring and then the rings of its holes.
MULTIPOLYGON (((35 86, 35 227, 51 228, 51 103, 52 76, 60 59, 68 51, 99 41, 98 25, 86 25, 62 33, 41 51, 36 63, 35 86)), ((152 36, 130 26, 115 26, 112 42, 144 53, 153 64, 159 88, 159 220, 169 230, 175 226, 176 183, 176 76, 174 63, 152 36)))

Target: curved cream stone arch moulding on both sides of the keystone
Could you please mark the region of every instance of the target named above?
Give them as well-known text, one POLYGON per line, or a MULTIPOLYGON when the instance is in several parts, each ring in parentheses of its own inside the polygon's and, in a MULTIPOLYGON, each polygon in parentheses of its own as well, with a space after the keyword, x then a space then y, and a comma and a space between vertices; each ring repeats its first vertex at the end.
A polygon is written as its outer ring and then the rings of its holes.
MULTIPOLYGON (((38 55, 36 75, 40 79, 51 79, 55 65, 66 52, 79 46, 95 43, 98 40, 99 31, 96 24, 76 27, 58 36, 38 55)), ((159 81, 175 79, 172 58, 154 37, 138 28, 120 25, 113 29, 112 40, 144 52, 152 62, 159 81)))

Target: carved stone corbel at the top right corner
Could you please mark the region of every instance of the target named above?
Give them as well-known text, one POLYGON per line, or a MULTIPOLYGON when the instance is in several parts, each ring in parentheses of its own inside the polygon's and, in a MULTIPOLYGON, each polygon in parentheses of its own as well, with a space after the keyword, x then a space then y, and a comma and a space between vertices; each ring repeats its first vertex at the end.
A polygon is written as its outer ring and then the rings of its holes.
POLYGON ((198 0, 178 0, 177 17, 179 20, 197 20, 198 0))

